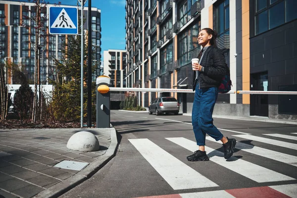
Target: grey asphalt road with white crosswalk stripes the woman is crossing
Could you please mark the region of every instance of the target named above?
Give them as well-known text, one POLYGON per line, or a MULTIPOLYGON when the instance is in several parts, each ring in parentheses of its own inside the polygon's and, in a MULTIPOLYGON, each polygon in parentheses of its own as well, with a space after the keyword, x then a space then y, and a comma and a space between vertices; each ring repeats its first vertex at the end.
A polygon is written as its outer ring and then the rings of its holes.
POLYGON ((210 161, 190 162, 186 156, 198 149, 190 116, 114 110, 111 124, 120 141, 116 156, 61 198, 136 198, 297 185, 297 125, 215 118, 216 127, 236 138, 239 149, 225 160, 222 145, 208 137, 210 161))

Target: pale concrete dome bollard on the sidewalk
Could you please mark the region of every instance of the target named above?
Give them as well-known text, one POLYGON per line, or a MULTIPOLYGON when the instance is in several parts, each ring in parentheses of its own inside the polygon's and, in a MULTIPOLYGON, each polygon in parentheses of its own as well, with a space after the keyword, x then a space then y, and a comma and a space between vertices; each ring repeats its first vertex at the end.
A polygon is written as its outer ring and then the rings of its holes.
POLYGON ((80 131, 73 134, 67 142, 67 148, 72 150, 88 152, 97 151, 99 150, 99 147, 100 145, 97 137, 88 131, 80 131))

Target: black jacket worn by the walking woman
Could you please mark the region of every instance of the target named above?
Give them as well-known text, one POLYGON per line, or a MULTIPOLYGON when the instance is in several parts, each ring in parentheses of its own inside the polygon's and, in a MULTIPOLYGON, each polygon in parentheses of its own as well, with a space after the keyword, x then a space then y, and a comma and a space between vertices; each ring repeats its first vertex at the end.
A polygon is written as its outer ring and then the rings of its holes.
POLYGON ((204 67, 204 72, 198 72, 199 80, 195 80, 196 71, 193 71, 193 91, 195 91, 197 83, 199 83, 201 89, 218 87, 227 72, 223 51, 209 46, 203 54, 200 65, 204 67))

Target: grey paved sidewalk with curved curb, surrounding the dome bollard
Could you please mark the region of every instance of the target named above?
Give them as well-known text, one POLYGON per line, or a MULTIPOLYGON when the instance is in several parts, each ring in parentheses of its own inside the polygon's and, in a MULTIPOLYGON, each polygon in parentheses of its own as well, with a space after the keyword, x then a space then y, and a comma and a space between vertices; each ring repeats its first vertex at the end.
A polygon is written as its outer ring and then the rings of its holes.
POLYGON ((114 128, 0 130, 0 198, 58 197, 97 172, 116 148, 114 128), (66 148, 69 138, 79 131, 93 133, 99 151, 66 148), (89 165, 81 171, 53 167, 63 160, 89 165))

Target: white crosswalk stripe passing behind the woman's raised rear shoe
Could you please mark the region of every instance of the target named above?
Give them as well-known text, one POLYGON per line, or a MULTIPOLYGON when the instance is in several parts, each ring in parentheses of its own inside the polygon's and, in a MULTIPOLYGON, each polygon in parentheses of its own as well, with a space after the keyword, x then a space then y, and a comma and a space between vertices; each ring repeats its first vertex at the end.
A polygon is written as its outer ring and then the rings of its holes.
MULTIPOLYGON (((217 142, 209 136, 206 137, 206 140, 221 144, 221 142, 217 142)), ((267 157, 269 159, 280 161, 280 162, 283 162, 286 164, 297 166, 297 156, 294 156, 294 155, 289 155, 286 153, 281 153, 281 152, 269 150, 266 148, 260 148, 260 147, 256 147, 256 146, 252 146, 252 145, 247 145, 247 144, 244 144, 241 142, 237 142, 235 148, 238 148, 240 150, 244 150, 246 152, 250 152, 252 154, 256 154, 256 155, 259 155, 262 157, 267 157)))

